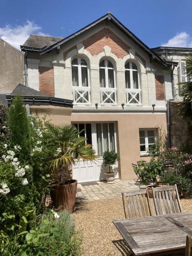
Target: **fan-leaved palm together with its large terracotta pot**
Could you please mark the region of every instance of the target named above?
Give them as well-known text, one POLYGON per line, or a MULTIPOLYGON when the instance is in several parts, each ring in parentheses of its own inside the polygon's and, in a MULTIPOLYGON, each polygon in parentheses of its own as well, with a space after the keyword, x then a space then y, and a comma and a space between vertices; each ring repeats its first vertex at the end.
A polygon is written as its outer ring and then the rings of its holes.
POLYGON ((75 206, 77 180, 72 179, 73 164, 80 159, 93 161, 96 159, 91 144, 86 144, 86 138, 79 136, 73 124, 46 124, 48 140, 55 146, 51 157, 53 171, 53 189, 51 197, 53 205, 58 209, 72 212, 75 206))

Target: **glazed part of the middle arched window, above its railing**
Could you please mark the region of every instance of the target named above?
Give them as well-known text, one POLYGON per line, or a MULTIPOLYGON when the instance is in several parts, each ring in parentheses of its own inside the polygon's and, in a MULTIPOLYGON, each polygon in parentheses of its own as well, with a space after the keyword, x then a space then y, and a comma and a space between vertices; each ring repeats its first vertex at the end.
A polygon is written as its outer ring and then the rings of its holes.
POLYGON ((113 64, 104 59, 99 64, 99 77, 101 88, 115 88, 113 64))

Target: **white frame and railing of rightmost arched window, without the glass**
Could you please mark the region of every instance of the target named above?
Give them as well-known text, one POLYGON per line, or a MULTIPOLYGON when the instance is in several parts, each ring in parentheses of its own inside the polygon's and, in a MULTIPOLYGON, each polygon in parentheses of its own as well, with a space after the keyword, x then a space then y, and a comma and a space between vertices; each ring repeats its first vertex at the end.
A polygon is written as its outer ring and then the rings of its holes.
MULTIPOLYGON (((140 89, 140 73, 138 68, 137 69, 133 69, 132 68, 132 61, 128 61, 130 63, 130 69, 126 69, 125 68, 125 72, 130 71, 130 87, 131 88, 125 88, 126 91, 126 104, 127 105, 141 105, 141 89, 140 89), (137 76, 138 76, 138 89, 133 88, 133 71, 137 71, 137 76), (131 95, 131 99, 129 100, 129 94, 131 95), (131 103, 132 99, 136 98, 137 94, 139 94, 139 101, 136 99, 136 101, 138 101, 137 103, 131 103)), ((126 63, 128 63, 126 62, 126 63)), ((125 65, 126 65, 125 63, 125 65)), ((134 63, 136 65, 136 63, 134 63)), ((136 65, 137 67, 137 65, 136 65)), ((125 86, 126 86, 126 78, 125 78, 125 86)))

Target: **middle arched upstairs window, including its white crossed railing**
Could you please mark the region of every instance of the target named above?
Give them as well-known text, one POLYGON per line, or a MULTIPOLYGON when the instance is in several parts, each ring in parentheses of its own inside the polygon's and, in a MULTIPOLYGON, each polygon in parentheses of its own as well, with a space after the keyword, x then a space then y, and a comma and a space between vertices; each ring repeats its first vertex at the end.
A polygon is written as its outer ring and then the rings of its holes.
POLYGON ((116 104, 115 71, 111 61, 104 59, 99 64, 101 104, 116 104))

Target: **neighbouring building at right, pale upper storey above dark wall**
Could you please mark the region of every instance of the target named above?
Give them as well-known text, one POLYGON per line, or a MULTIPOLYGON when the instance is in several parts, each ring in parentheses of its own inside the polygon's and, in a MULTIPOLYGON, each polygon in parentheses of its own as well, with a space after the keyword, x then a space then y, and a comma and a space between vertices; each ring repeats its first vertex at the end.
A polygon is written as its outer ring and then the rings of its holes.
POLYGON ((179 104, 182 102, 180 96, 179 82, 186 82, 188 77, 186 75, 186 61, 188 53, 192 52, 192 48, 182 47, 157 47, 153 48, 157 54, 164 57, 167 61, 174 61, 177 63, 177 67, 173 70, 173 98, 174 100, 169 102, 168 108, 168 123, 169 123, 169 138, 170 145, 176 145, 177 143, 184 143, 187 137, 187 125, 178 114, 179 104))

